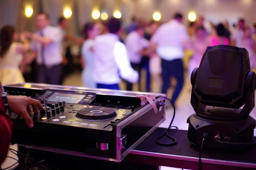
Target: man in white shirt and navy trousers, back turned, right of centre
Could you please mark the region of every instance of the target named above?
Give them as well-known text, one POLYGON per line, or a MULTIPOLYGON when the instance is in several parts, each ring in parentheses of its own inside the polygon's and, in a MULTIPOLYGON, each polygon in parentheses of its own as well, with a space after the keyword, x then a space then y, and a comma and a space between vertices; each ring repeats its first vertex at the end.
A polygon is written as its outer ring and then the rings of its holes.
POLYGON ((182 58, 184 57, 184 43, 189 40, 182 19, 182 14, 175 14, 174 19, 160 26, 151 38, 151 42, 157 46, 157 54, 162 60, 162 93, 167 93, 171 76, 177 79, 177 85, 172 96, 173 103, 175 103, 183 88, 182 58))

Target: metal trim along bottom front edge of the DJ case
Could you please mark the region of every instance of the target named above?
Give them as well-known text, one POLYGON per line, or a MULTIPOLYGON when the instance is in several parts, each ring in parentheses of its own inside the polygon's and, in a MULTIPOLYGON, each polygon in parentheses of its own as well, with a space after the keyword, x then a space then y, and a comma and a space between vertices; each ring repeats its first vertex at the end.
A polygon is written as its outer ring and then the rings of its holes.
POLYGON ((106 160, 106 161, 119 162, 119 161, 117 161, 117 159, 104 158, 104 157, 99 157, 99 156, 91 156, 91 155, 86 155, 82 152, 77 152, 77 151, 62 150, 62 149, 56 149, 56 148, 52 148, 52 147, 41 147, 41 146, 36 146, 36 145, 32 145, 32 146, 27 146, 27 145, 22 145, 22 144, 19 144, 19 145, 24 146, 24 147, 29 148, 29 149, 44 150, 44 151, 68 154, 68 155, 73 155, 73 156, 81 156, 81 157, 86 157, 86 158, 93 158, 93 159, 101 159, 101 160, 106 160))

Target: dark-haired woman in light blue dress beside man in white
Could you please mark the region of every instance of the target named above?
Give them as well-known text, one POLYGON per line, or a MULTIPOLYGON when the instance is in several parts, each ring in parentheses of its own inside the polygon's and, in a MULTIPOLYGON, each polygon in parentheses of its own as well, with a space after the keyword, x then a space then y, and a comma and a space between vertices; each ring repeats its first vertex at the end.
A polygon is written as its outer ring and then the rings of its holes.
POLYGON ((82 56, 82 82, 85 87, 96 88, 96 83, 93 81, 93 65, 94 65, 94 38, 102 34, 101 24, 100 23, 86 23, 84 26, 84 43, 81 48, 82 56))

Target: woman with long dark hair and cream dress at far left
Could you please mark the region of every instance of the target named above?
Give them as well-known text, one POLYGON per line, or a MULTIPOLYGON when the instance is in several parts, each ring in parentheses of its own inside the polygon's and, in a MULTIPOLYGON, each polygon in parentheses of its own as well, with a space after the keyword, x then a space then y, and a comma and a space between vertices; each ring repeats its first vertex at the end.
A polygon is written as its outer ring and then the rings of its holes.
POLYGON ((13 26, 3 26, 0 30, 0 81, 3 85, 25 82, 22 67, 25 65, 25 53, 29 49, 29 42, 25 36, 17 33, 13 26))

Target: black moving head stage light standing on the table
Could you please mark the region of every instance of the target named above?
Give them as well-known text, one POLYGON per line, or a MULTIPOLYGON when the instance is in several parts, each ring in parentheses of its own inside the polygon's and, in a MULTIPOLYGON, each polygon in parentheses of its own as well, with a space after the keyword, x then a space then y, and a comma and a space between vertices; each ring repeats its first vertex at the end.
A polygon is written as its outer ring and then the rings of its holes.
POLYGON ((191 74, 191 84, 195 113, 187 119, 190 143, 200 146, 204 141, 205 147, 215 148, 255 144, 256 120, 249 114, 254 108, 256 74, 250 71, 245 48, 208 47, 191 74))

